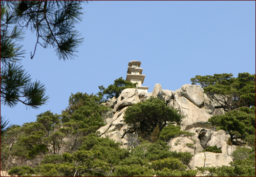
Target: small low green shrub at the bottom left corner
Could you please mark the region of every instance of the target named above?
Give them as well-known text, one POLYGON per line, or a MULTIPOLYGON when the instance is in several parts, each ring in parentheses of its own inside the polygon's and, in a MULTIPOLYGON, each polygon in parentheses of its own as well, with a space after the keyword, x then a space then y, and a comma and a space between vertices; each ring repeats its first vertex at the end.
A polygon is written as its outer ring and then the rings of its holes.
POLYGON ((30 167, 30 166, 16 166, 16 167, 12 167, 8 173, 10 175, 18 175, 18 176, 31 176, 31 174, 35 173, 35 169, 30 167))

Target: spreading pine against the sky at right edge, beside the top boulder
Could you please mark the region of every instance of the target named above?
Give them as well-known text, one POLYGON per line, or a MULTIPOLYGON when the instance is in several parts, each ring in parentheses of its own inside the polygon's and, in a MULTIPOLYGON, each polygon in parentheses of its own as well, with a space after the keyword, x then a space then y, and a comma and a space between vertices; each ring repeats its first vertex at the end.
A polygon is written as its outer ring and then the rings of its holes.
POLYGON ((255 74, 239 73, 237 78, 230 74, 214 74, 191 78, 191 84, 200 84, 226 110, 240 106, 255 106, 255 74))

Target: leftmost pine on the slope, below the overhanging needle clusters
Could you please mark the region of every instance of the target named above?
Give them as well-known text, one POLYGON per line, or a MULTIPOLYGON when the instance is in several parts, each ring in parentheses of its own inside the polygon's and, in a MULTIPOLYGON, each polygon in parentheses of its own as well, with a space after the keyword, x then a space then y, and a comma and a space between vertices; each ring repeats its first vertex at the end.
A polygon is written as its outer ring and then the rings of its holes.
POLYGON ((34 159, 38 155, 58 153, 63 139, 59 127, 59 116, 50 111, 37 115, 36 122, 25 123, 21 127, 12 126, 8 131, 12 154, 34 159))

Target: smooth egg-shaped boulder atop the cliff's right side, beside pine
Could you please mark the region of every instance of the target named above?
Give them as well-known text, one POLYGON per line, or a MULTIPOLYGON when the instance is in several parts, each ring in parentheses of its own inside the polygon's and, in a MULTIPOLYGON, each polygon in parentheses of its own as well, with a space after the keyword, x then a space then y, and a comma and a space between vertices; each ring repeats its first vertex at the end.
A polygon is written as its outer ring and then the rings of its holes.
POLYGON ((181 96, 187 98, 198 107, 201 107, 204 103, 203 89, 200 85, 182 85, 181 96))

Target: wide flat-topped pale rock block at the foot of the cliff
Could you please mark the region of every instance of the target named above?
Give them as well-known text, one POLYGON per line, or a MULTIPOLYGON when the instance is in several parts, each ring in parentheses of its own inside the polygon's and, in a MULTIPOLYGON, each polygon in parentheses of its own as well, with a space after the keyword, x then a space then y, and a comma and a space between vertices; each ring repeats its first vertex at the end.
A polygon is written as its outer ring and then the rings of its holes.
POLYGON ((200 152, 197 153, 189 163, 191 169, 198 167, 230 166, 232 158, 224 153, 200 152))

